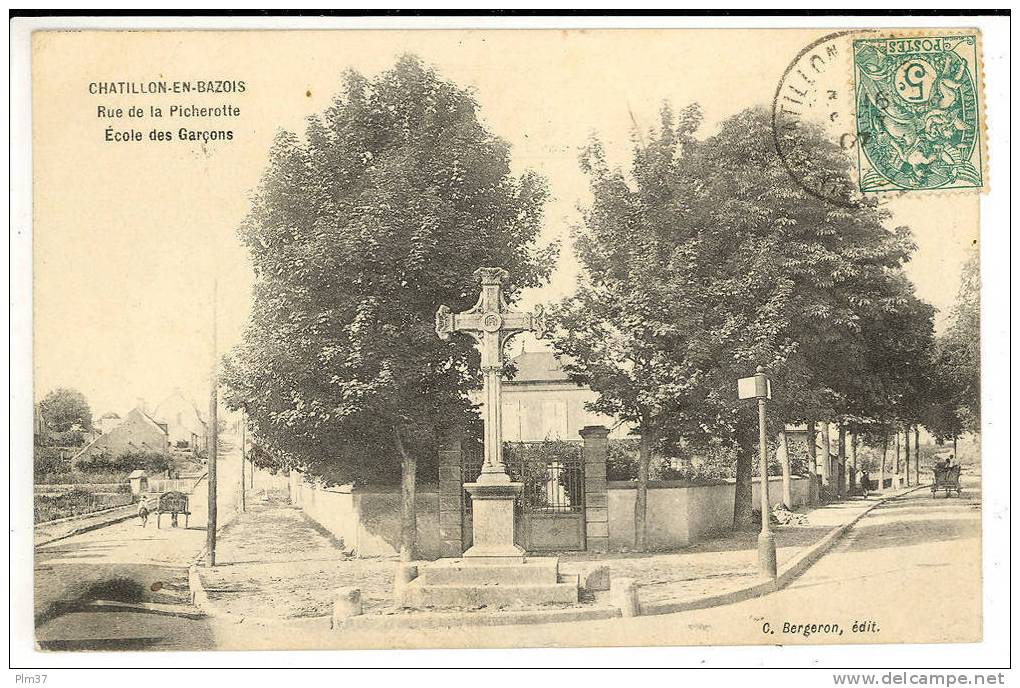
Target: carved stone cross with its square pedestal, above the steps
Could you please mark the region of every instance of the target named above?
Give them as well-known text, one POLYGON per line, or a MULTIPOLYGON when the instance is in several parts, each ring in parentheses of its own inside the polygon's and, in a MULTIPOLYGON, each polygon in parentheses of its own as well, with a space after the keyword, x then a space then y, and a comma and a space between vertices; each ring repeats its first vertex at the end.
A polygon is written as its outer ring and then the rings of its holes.
POLYGON ((503 348, 520 332, 546 333, 542 307, 534 314, 509 310, 503 297, 503 282, 509 273, 503 268, 478 268, 474 277, 481 283, 478 303, 463 313, 452 313, 441 306, 436 313, 436 333, 449 339, 453 332, 464 332, 481 348, 484 409, 484 462, 477 482, 464 488, 471 494, 474 517, 474 544, 464 557, 522 558, 523 549, 513 541, 513 502, 523 485, 511 482, 503 464, 502 375, 503 348))

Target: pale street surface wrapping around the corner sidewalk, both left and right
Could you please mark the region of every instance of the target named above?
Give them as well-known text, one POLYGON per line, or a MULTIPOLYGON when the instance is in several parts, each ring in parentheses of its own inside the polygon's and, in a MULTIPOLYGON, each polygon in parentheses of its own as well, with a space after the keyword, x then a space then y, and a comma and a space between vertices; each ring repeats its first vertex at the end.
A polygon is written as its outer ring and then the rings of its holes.
MULTIPOLYGON (((42 548, 38 566, 59 567, 64 590, 80 590, 97 572, 126 571, 135 581, 180 585, 182 569, 165 555, 168 540, 200 546, 201 531, 154 530, 135 522, 42 548), (137 535, 132 535, 131 529, 137 535), (118 565, 111 548, 136 538, 147 563, 118 565), (162 558, 162 561, 160 559, 162 558), (72 568, 73 567, 73 568, 72 568), (119 567, 119 568, 118 568, 119 567), (174 574, 174 572, 176 572, 174 574)), ((84 612, 43 624, 51 649, 242 649, 324 647, 501 647, 744 643, 848 643, 977 640, 981 634, 980 493, 976 478, 962 498, 931 497, 927 489, 887 502, 866 516, 822 560, 787 588, 766 597, 697 612, 610 621, 524 627, 334 633, 321 619, 273 626, 189 620, 154 614, 84 612), (98 614, 103 617, 97 624, 98 614), (115 624, 108 621, 115 620, 115 624), (862 632, 854 631, 858 623, 862 632), (768 624, 768 626, 765 626, 768 624), (821 628, 803 628, 805 625, 821 628), (794 627, 801 626, 797 632, 794 627), (99 628, 114 628, 99 632, 99 628)), ((52 578, 48 577, 48 578, 52 578)), ((57 587, 57 586, 52 586, 57 587)), ((172 591, 171 591, 172 592, 172 591)), ((43 594, 49 594, 43 590, 43 594)), ((66 593, 65 593, 66 596, 66 593)))

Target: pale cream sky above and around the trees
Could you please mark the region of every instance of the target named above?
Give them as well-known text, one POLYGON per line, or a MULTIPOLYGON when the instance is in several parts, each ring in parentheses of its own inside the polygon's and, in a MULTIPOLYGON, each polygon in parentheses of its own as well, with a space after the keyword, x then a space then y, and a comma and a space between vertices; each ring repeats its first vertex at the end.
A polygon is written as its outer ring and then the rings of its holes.
MULTIPOLYGON (((553 283, 526 306, 569 293, 568 250, 586 201, 577 153, 592 131, 625 164, 633 124, 654 125, 661 102, 705 112, 702 134, 741 109, 771 103, 795 55, 823 31, 304 32, 37 34, 34 46, 36 394, 81 389, 94 413, 155 405, 174 387, 207 393, 211 279, 219 279, 220 350, 241 335, 250 270, 237 240, 266 152, 279 128, 304 129, 354 68, 371 75, 413 52, 472 88, 516 169, 549 180, 545 240, 566 249, 553 283), (130 59, 125 59, 130 56, 130 59), (235 96, 90 95, 94 81, 244 80, 235 96), (108 124, 176 130, 181 120, 112 122, 99 105, 237 105, 238 119, 195 120, 233 128, 235 140, 111 144, 108 124)), ((850 74, 847 74, 850 78, 850 74)), ((919 250, 908 273, 945 312, 964 248, 977 235, 975 196, 890 201, 919 250)))

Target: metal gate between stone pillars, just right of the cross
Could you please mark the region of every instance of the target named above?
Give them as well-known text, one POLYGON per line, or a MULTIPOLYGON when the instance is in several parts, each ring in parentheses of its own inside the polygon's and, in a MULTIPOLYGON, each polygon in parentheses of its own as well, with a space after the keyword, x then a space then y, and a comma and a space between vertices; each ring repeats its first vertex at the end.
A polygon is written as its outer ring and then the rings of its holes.
POLYGON ((584 459, 571 442, 508 444, 511 479, 524 483, 518 536, 527 551, 584 549, 584 459))

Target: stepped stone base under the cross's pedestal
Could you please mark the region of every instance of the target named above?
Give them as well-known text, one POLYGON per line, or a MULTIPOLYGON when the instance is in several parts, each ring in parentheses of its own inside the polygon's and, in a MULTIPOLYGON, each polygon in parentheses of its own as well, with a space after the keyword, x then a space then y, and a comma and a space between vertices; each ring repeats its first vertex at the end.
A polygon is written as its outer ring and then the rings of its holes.
POLYGON ((443 559, 421 569, 401 602, 418 608, 575 604, 577 588, 578 577, 561 575, 554 557, 443 559))

